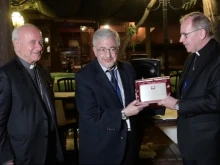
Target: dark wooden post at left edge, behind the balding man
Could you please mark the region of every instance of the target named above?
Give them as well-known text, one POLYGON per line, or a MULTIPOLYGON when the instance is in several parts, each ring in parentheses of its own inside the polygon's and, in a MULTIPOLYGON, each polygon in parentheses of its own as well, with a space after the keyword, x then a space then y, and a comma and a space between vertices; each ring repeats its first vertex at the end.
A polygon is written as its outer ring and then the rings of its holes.
POLYGON ((0 0, 0 66, 7 63, 13 56, 10 2, 8 0, 0 0))

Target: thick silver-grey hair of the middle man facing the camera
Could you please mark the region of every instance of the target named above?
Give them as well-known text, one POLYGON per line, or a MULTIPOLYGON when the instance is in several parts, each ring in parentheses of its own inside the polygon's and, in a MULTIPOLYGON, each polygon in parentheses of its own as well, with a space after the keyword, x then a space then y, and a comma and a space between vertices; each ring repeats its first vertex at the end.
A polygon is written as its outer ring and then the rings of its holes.
POLYGON ((98 29, 95 31, 93 35, 93 46, 96 47, 97 40, 100 39, 107 39, 109 37, 115 38, 116 44, 119 47, 120 46, 120 37, 118 33, 112 29, 98 29))

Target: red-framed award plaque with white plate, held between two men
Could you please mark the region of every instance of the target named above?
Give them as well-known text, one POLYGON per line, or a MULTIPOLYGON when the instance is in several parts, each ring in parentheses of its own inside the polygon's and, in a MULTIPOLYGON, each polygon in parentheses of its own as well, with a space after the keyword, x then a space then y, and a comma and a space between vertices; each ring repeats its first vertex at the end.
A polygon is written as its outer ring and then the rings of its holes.
POLYGON ((157 103, 171 92, 170 77, 153 77, 135 81, 136 99, 141 102, 157 103))

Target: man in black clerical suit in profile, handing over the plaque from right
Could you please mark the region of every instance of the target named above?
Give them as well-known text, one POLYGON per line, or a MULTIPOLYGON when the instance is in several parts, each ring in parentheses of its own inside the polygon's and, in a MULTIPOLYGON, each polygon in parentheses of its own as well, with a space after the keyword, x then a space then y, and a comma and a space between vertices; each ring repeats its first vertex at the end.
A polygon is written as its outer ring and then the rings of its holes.
POLYGON ((220 45, 203 13, 190 13, 180 22, 180 42, 192 54, 184 66, 178 100, 167 97, 159 104, 178 112, 178 145, 184 165, 219 165, 220 45))

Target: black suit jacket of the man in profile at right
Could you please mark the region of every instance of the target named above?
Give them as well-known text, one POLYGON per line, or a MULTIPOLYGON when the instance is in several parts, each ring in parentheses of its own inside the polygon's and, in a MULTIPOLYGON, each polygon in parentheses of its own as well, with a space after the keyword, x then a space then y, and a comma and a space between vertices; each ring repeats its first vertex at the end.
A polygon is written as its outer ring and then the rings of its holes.
POLYGON ((188 160, 213 159, 220 153, 220 45, 211 39, 199 53, 196 60, 189 57, 179 85, 178 145, 188 160), (192 65, 195 70, 188 76, 192 65))

